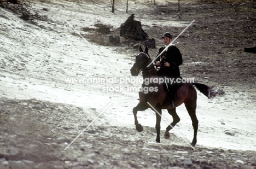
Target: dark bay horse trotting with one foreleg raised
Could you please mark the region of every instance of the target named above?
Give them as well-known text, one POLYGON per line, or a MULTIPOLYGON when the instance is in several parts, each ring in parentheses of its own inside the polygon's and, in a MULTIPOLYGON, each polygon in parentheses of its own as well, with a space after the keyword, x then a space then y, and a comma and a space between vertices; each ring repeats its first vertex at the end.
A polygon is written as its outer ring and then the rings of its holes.
POLYGON ((188 110, 188 114, 192 120, 192 125, 194 128, 194 137, 193 137, 193 141, 191 142, 191 145, 194 147, 197 141, 196 136, 197 136, 197 129, 198 129, 199 122, 196 118, 197 94, 193 85, 195 85, 196 88, 208 98, 214 97, 216 94, 218 94, 218 91, 214 91, 212 90, 213 87, 209 87, 207 85, 200 84, 200 83, 184 83, 181 87, 179 87, 179 89, 176 92, 174 107, 173 108, 168 107, 168 102, 166 102, 167 94, 164 91, 165 84, 154 83, 154 80, 160 81, 160 78, 162 77, 159 77, 153 64, 150 64, 152 60, 148 55, 148 48, 146 47, 145 51, 143 51, 142 47, 140 46, 139 51, 140 53, 136 56, 135 63, 130 69, 132 76, 137 76, 140 72, 142 72, 142 76, 144 79, 142 88, 139 91, 139 103, 132 110, 135 118, 136 130, 138 132, 141 132, 143 130, 142 125, 138 123, 137 112, 153 107, 152 109, 156 113, 156 125, 155 125, 156 142, 160 143, 161 110, 167 109, 168 113, 171 114, 173 118, 172 123, 166 127, 166 131, 164 134, 165 138, 169 138, 170 137, 169 131, 180 120, 179 116, 176 113, 176 107, 184 103, 186 109, 188 110), (154 80, 151 80, 149 81, 150 83, 148 83, 148 80, 146 81, 146 79, 150 79, 150 78, 154 80), (151 89, 151 91, 149 89, 151 89), (145 91, 148 91, 148 92, 145 92, 145 91))

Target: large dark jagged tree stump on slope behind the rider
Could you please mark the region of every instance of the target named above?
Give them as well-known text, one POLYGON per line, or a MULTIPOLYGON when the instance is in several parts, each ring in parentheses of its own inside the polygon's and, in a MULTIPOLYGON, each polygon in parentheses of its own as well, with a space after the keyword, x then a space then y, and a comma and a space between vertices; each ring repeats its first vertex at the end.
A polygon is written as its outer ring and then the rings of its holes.
POLYGON ((148 38, 148 34, 142 29, 141 22, 133 19, 134 14, 131 14, 124 24, 121 24, 120 36, 135 40, 146 40, 148 38))

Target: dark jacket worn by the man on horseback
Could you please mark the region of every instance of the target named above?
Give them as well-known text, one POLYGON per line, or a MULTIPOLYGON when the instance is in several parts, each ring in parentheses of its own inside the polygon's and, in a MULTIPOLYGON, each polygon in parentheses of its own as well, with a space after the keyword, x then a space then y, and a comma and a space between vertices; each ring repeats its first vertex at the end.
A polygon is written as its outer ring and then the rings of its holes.
MULTIPOLYGON (((158 55, 165 49, 165 46, 162 46, 159 49, 158 55)), ((182 54, 176 46, 169 46, 167 51, 165 51, 161 56, 159 56, 155 62, 160 61, 160 57, 162 58, 162 62, 160 65, 160 69, 158 71, 159 75, 164 77, 172 77, 178 78, 181 77, 181 73, 179 72, 179 65, 182 65, 182 54), (164 66, 164 63, 170 63, 170 67, 164 66)))

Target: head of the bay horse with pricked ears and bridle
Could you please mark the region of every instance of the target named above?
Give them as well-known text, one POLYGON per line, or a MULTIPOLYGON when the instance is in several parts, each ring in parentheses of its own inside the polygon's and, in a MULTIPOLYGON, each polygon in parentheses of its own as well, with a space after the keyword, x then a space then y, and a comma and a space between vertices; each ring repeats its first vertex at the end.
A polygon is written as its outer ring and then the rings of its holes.
POLYGON ((147 66, 151 62, 151 59, 148 55, 148 47, 146 47, 145 51, 143 51, 142 47, 139 46, 139 51, 141 53, 139 53, 136 56, 135 63, 133 64, 133 66, 131 68, 131 75, 133 75, 133 76, 137 76, 139 74, 139 72, 141 72, 141 70, 143 71, 143 69, 147 68, 147 66))

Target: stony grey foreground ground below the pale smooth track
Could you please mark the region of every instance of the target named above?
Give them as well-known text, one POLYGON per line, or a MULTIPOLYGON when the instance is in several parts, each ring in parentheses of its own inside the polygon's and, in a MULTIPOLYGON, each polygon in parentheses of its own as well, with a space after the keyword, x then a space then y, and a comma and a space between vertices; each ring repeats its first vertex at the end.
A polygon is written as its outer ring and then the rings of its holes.
POLYGON ((173 134, 160 144, 147 142, 155 137, 153 127, 138 133, 129 127, 102 125, 101 119, 65 150, 93 120, 88 116, 95 110, 38 100, 1 100, 0 106, 0 168, 256 167, 255 151, 201 146, 193 150, 173 134))

